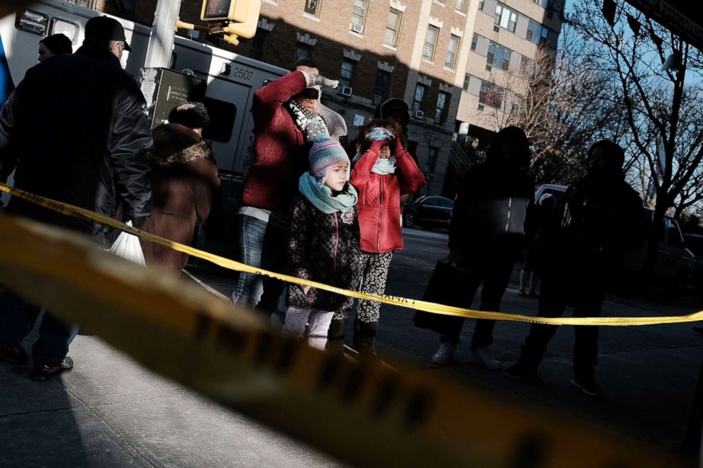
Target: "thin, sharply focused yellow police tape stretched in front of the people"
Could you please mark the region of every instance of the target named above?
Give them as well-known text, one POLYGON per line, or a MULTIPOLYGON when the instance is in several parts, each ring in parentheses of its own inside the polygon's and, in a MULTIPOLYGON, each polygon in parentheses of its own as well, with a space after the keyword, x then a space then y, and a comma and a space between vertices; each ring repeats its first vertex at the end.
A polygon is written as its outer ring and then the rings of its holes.
POLYGON ((549 318, 549 317, 534 317, 522 314, 506 314, 505 312, 486 312, 473 309, 463 309, 461 307, 451 307, 447 305, 437 304, 434 302, 427 302, 417 299, 405 299, 404 297, 395 297, 389 295, 377 295, 368 292, 359 292, 352 290, 344 290, 339 287, 334 287, 330 285, 325 285, 321 282, 315 282, 310 280, 303 280, 301 278, 296 278, 295 276, 282 275, 281 273, 274 273, 268 270, 262 270, 261 268, 254 268, 248 266, 244 263, 239 263, 229 258, 221 257, 213 253, 208 253, 206 251, 201 251, 194 249, 191 246, 186 246, 184 244, 179 244, 177 242, 169 241, 163 237, 154 236, 154 234, 149 234, 135 227, 129 227, 123 222, 119 222, 111 217, 101 215, 99 213, 93 212, 91 210, 86 210, 85 208, 77 207, 74 205, 69 205, 68 203, 60 202, 57 200, 51 200, 50 198, 40 197, 39 195, 33 195, 27 193, 23 190, 17 188, 12 188, 6 186, 4 183, 0 183, 0 190, 10 193, 13 196, 22 198, 29 202, 33 202, 37 205, 45 207, 49 210, 63 213, 64 215, 69 215, 77 218, 84 219, 89 222, 95 222, 97 224, 103 224, 106 226, 119 229, 123 232, 128 232, 134 234, 135 236, 144 239, 145 241, 154 242, 162 246, 169 247, 179 252, 188 253, 191 256, 202 258, 203 260, 214 263, 215 265, 227 268, 228 270, 242 271, 246 273, 254 273, 255 275, 264 275, 271 278, 276 278, 278 280, 283 280, 286 282, 292 282, 298 285, 317 287, 322 290, 327 290, 330 292, 337 292, 338 294, 346 295, 349 297, 355 297, 356 299, 366 299, 376 302, 381 302, 383 304, 391 304, 395 306, 408 307, 410 309, 422 310, 424 312, 431 312, 433 314, 444 314, 444 315, 454 315, 466 317, 468 319, 491 319, 491 320, 504 320, 504 321, 521 321, 530 324, 549 324, 549 325, 594 325, 594 326, 627 326, 627 325, 653 325, 653 324, 674 324, 687 321, 699 321, 703 320, 703 311, 695 312, 694 314, 683 315, 683 316, 654 316, 654 317, 560 317, 560 318, 549 318))

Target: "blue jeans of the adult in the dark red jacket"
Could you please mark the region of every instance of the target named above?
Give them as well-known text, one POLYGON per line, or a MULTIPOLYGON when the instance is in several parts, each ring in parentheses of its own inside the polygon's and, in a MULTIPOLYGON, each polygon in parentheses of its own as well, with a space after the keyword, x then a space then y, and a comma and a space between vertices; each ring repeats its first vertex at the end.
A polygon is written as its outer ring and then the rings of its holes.
MULTIPOLYGON (((283 273, 286 266, 286 256, 282 254, 286 240, 284 230, 248 215, 239 215, 239 222, 242 263, 283 273)), ((232 292, 232 302, 270 313, 276 309, 284 285, 284 282, 267 276, 240 273, 232 292)))

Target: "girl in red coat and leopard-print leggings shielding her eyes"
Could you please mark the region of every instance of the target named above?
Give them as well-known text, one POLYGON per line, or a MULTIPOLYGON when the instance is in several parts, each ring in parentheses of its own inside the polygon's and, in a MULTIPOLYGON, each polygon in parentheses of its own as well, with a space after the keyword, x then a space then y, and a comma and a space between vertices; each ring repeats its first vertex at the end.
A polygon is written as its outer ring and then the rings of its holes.
MULTIPOLYGON (((359 152, 354 157, 350 182, 359 193, 356 209, 361 230, 361 287, 364 292, 386 291, 388 267, 393 252, 403 249, 400 226, 400 195, 424 185, 424 176, 405 151, 400 126, 390 120, 371 120, 359 130, 359 152)), ((374 353, 379 309, 375 301, 359 300, 354 321, 354 348, 374 353)), ((330 325, 330 343, 344 341, 347 315, 335 314, 330 325)))

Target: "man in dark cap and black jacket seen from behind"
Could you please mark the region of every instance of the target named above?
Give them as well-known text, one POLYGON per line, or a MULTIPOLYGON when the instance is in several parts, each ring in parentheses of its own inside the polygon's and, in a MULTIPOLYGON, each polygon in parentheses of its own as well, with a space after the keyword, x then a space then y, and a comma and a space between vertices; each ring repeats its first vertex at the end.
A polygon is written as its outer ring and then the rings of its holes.
MULTIPOLYGON (((150 215, 150 146, 145 100, 121 67, 130 50, 118 21, 86 23, 74 55, 57 55, 28 70, 0 111, 0 180, 15 171, 15 187, 140 225, 150 215)), ((106 246, 105 227, 12 198, 8 214, 93 234, 106 246)), ((39 309, 4 292, 0 298, 0 361, 28 362, 20 343, 39 309)), ((76 330, 45 314, 33 347, 32 378, 47 380, 73 367, 67 357, 76 330)))

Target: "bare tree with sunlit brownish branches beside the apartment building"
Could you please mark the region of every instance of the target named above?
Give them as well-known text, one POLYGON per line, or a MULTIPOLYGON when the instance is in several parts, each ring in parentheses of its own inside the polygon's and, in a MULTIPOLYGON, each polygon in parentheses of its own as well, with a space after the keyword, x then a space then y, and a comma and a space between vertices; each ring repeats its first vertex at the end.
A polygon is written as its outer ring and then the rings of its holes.
POLYGON ((568 184, 583 170, 588 147, 597 139, 618 140, 624 119, 614 118, 616 83, 593 67, 587 44, 564 28, 558 51, 540 47, 519 70, 499 72, 500 110, 490 110, 490 127, 521 127, 533 148, 532 170, 538 183, 568 184), (502 79, 501 79, 502 78, 502 79))

